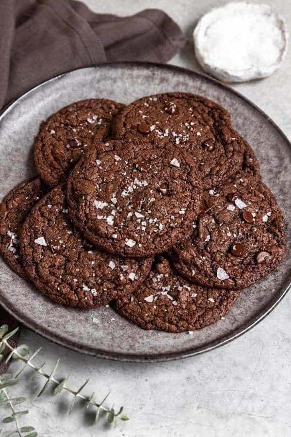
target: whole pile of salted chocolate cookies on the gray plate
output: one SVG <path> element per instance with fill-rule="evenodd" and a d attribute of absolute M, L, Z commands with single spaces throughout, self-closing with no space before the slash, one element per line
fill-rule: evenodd
<path fill-rule="evenodd" d="M 0 253 L 57 303 L 192 332 L 286 251 L 253 150 L 206 98 L 73 103 L 41 124 L 34 161 L 0 205 Z"/>

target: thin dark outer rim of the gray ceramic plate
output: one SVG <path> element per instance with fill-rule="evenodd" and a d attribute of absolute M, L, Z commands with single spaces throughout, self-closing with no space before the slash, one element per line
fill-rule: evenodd
<path fill-rule="evenodd" d="M 291 141 L 288 139 L 287 135 L 284 134 L 284 132 L 279 128 L 279 126 L 275 123 L 275 121 L 272 118 L 270 118 L 262 109 L 260 109 L 259 106 L 257 106 L 255 103 L 253 103 L 248 98 L 243 96 L 237 90 L 234 90 L 233 88 L 231 88 L 229 85 L 224 84 L 224 83 L 212 78 L 211 76 L 208 76 L 207 74 L 193 71 L 193 70 L 190 70 L 189 68 L 178 67 L 178 66 L 175 66 L 172 64 L 159 64 L 159 63 L 141 62 L 141 61 L 134 61 L 134 62 L 122 61 L 122 62 L 102 63 L 102 64 L 98 64 L 98 65 L 91 66 L 91 67 L 75 68 L 73 70 L 69 70 L 65 73 L 54 76 L 53 78 L 48 79 L 48 80 L 41 82 L 40 84 L 34 86 L 30 90 L 28 90 L 27 92 L 22 94 L 20 97 L 18 97 L 16 100 L 14 100 L 14 101 L 8 103 L 6 106 L 4 106 L 2 108 L 2 110 L 0 111 L 0 124 L 2 123 L 3 118 L 5 117 L 5 115 L 9 111 L 11 111 L 21 100 L 25 99 L 30 93 L 34 92 L 39 87 L 44 86 L 50 82 L 57 81 L 57 80 L 61 79 L 62 77 L 65 77 L 66 75 L 73 73 L 75 71 L 81 71 L 81 70 L 88 69 L 88 68 L 99 69 L 99 68 L 108 68 L 108 67 L 112 67 L 113 69 L 120 68 L 120 67 L 126 67 L 126 68 L 130 68 L 130 67 L 161 68 L 162 67 L 165 69 L 169 69 L 171 71 L 178 71 L 178 72 L 183 72 L 185 74 L 191 74 L 191 75 L 196 76 L 197 78 L 211 82 L 211 83 L 219 86 L 220 88 L 228 90 L 228 92 L 236 95 L 237 97 L 239 97 L 240 99 L 242 99 L 243 101 L 245 101 L 246 103 L 251 105 L 254 109 L 256 109 L 263 116 L 263 118 L 266 118 L 267 121 L 269 123 L 271 123 L 271 125 L 275 128 L 275 130 L 278 132 L 278 134 L 280 134 L 284 138 L 284 140 L 288 144 L 289 148 L 291 149 Z M 199 348 L 191 348 L 190 347 L 190 348 L 186 348 L 185 350 L 182 350 L 179 352 L 172 352 L 172 353 L 130 354 L 130 353 L 108 352 L 108 351 L 105 352 L 105 351 L 102 351 L 98 348 L 96 349 L 93 347 L 91 348 L 91 347 L 87 347 L 87 346 L 86 347 L 80 346 L 76 342 L 70 341 L 68 339 L 64 340 L 62 336 L 58 336 L 57 334 L 52 335 L 52 334 L 46 332 L 46 328 L 41 328 L 37 325 L 37 323 L 33 323 L 32 321 L 26 319 L 23 315 L 21 316 L 21 314 L 18 314 L 17 311 L 14 312 L 13 308 L 9 307 L 9 303 L 4 301 L 2 296 L 0 296 L 0 303 L 1 303 L 2 307 L 9 314 L 11 314 L 16 320 L 21 322 L 24 326 L 28 327 L 29 329 L 31 329 L 35 333 L 39 334 L 40 336 L 47 338 L 50 341 L 53 341 L 54 343 L 59 344 L 67 349 L 71 349 L 73 351 L 84 353 L 87 355 L 96 356 L 98 358 L 109 359 L 109 360 L 114 360 L 114 361 L 154 363 L 154 362 L 165 362 L 165 361 L 184 359 L 184 358 L 189 358 L 191 356 L 200 355 L 202 353 L 207 353 L 207 352 L 210 352 L 214 349 L 222 347 L 222 346 L 230 343 L 231 341 L 235 340 L 236 338 L 239 338 L 240 336 L 244 335 L 245 333 L 247 333 L 248 331 L 253 329 L 256 325 L 258 325 L 263 319 L 265 319 L 265 317 L 267 317 L 275 309 L 275 307 L 283 300 L 283 298 L 286 296 L 286 294 L 288 293 L 288 291 L 291 288 L 291 278 L 288 278 L 288 281 L 287 281 L 288 283 L 286 284 L 286 286 L 283 286 L 283 289 L 281 290 L 281 292 L 277 296 L 275 296 L 271 300 L 270 303 L 265 305 L 256 316 L 254 316 L 252 319 L 250 319 L 250 321 L 246 322 L 242 327 L 229 333 L 226 336 L 223 336 L 222 338 L 218 338 L 214 342 L 214 344 L 212 342 L 212 344 L 210 346 L 205 345 L 205 346 L 201 346 Z M 0 290 L 1 290 L 1 287 L 0 287 Z"/>

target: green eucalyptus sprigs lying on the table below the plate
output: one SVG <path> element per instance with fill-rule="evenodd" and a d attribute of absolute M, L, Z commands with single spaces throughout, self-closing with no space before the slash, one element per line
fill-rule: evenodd
<path fill-rule="evenodd" d="M 69 376 L 65 377 L 61 381 L 56 379 L 55 378 L 55 373 L 56 373 L 56 370 L 57 370 L 57 368 L 59 366 L 60 359 L 57 360 L 57 362 L 56 362 L 56 364 L 55 364 L 55 366 L 54 366 L 54 368 L 53 368 L 53 370 L 51 371 L 50 374 L 46 373 L 43 370 L 43 368 L 45 366 L 45 363 L 43 363 L 40 366 L 35 366 L 32 363 L 32 360 L 38 355 L 38 353 L 41 351 L 42 348 L 39 348 L 37 351 L 32 353 L 32 355 L 30 357 L 25 358 L 25 356 L 27 356 L 29 354 L 29 348 L 28 348 L 27 345 L 25 345 L 25 344 L 24 345 L 19 345 L 16 348 L 13 348 L 8 343 L 8 339 L 10 337 L 12 337 L 18 331 L 18 328 L 16 328 L 14 331 L 11 331 L 11 332 L 8 332 L 8 330 L 9 330 L 9 328 L 8 328 L 7 325 L 0 326 L 0 362 L 4 359 L 4 356 L 3 356 L 2 352 L 4 351 L 4 349 L 7 348 L 10 351 L 10 353 L 9 353 L 9 355 L 6 358 L 6 362 L 8 362 L 11 359 L 19 359 L 19 360 L 21 360 L 24 363 L 24 366 L 17 373 L 15 378 L 17 378 L 20 375 L 20 373 L 23 370 L 27 369 L 27 368 L 30 368 L 30 369 L 32 369 L 35 372 L 33 377 L 32 377 L 32 379 L 36 376 L 36 374 L 40 374 L 41 376 L 43 376 L 46 379 L 46 382 L 45 382 L 45 385 L 42 387 L 42 389 L 40 390 L 40 392 L 39 392 L 39 394 L 37 396 L 40 396 L 45 391 L 45 389 L 48 387 L 49 383 L 52 383 L 55 386 L 54 390 L 53 390 L 53 395 L 54 396 L 59 394 L 59 393 L 61 393 L 63 390 L 68 391 L 73 396 L 71 404 L 70 404 L 70 407 L 69 407 L 69 414 L 71 414 L 71 412 L 73 411 L 73 407 L 74 407 L 76 399 L 79 398 L 79 399 L 81 399 L 81 400 L 83 400 L 85 402 L 85 408 L 88 408 L 90 405 L 92 405 L 96 409 L 96 412 L 95 412 L 95 422 L 97 422 L 97 420 L 99 419 L 100 411 L 104 412 L 104 414 L 105 414 L 105 416 L 107 418 L 108 423 L 113 423 L 114 422 L 114 424 L 116 424 L 116 420 L 117 419 L 120 419 L 120 420 L 129 420 L 129 418 L 126 415 L 122 415 L 123 406 L 121 406 L 119 408 L 119 410 L 116 412 L 114 410 L 113 406 L 112 407 L 106 407 L 104 405 L 104 403 L 107 400 L 110 392 L 105 396 L 105 398 L 101 402 L 97 402 L 94 399 L 95 392 L 93 392 L 91 394 L 91 396 L 89 396 L 89 397 L 82 395 L 81 391 L 88 384 L 89 380 L 86 380 L 84 382 L 84 384 L 82 384 L 82 386 L 77 391 L 75 391 L 75 390 L 71 389 L 70 387 L 68 387 L 68 385 L 67 385 L 67 380 L 68 380 Z M 3 378 L 3 376 L 4 375 L 2 375 L 2 378 Z M 2 400 L 0 401 L 0 406 L 9 405 L 11 410 L 12 410 L 12 415 L 10 416 L 12 419 L 8 420 L 8 418 L 7 418 L 7 420 L 4 423 L 7 423 L 8 421 L 9 422 L 14 421 L 16 423 L 16 431 L 15 431 L 15 434 L 12 434 L 13 436 L 22 437 L 22 436 L 24 436 L 24 434 L 23 434 L 24 432 L 30 432 L 30 434 L 26 435 L 25 437 L 35 437 L 35 436 L 37 436 L 37 433 L 34 431 L 34 429 L 31 430 L 32 427 L 23 427 L 22 431 L 21 431 L 21 428 L 18 425 L 18 422 L 17 422 L 18 414 L 17 414 L 17 412 L 14 409 L 14 405 L 16 403 L 19 403 L 21 399 L 23 400 L 22 402 L 24 402 L 25 398 L 11 399 L 9 397 L 9 394 L 8 394 L 8 392 L 6 390 L 6 387 L 15 385 L 17 383 L 17 380 L 16 379 L 12 379 L 10 376 L 11 375 L 4 376 L 4 379 L 7 378 L 7 380 L 4 381 L 2 379 L 2 381 L 0 383 L 0 396 L 2 397 Z M 3 387 L 3 385 L 5 387 Z M 23 414 L 27 414 L 25 412 L 22 412 L 22 413 Z M 30 428 L 30 429 L 28 430 L 28 428 Z"/>

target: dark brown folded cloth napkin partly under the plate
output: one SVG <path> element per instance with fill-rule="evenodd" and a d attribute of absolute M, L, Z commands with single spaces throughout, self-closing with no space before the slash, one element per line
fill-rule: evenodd
<path fill-rule="evenodd" d="M 185 42 L 178 25 L 157 9 L 116 17 L 74 0 L 1 0 L 0 109 L 66 71 L 113 61 L 167 62 Z M 3 323 L 16 324 L 0 307 Z"/>

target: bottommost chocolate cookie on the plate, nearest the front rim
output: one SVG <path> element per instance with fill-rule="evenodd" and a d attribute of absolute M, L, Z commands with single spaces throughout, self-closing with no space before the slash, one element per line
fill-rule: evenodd
<path fill-rule="evenodd" d="M 113 308 L 144 329 L 194 331 L 224 317 L 238 295 L 233 290 L 194 285 L 163 259 L 133 296 L 118 299 Z"/>

